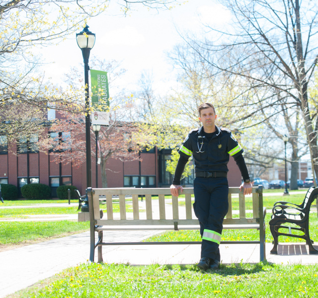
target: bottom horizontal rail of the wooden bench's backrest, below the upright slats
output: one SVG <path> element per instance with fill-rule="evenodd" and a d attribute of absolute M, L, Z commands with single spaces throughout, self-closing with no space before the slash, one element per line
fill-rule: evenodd
<path fill-rule="evenodd" d="M 178 228 L 181 229 L 182 225 L 193 225 L 198 226 L 198 220 L 96 220 L 97 225 L 174 225 L 178 223 Z M 256 219 L 224 219 L 223 224 L 237 224 L 237 225 L 247 225 L 247 224 L 257 224 Z"/>

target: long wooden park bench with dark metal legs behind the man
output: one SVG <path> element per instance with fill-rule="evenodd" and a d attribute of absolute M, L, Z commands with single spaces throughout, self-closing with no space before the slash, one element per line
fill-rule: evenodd
<path fill-rule="evenodd" d="M 185 195 L 185 216 L 179 216 L 178 201 L 184 200 L 172 196 L 172 214 L 168 216 L 165 205 L 165 196 L 171 196 L 169 188 L 88 188 L 89 216 L 87 212 L 79 213 L 79 221 L 90 221 L 90 255 L 89 261 L 94 261 L 94 251 L 98 247 L 98 262 L 102 262 L 102 245 L 147 245 L 147 244 L 201 244 L 201 241 L 180 241 L 180 242 L 104 242 L 103 231 L 106 230 L 184 230 L 200 229 L 197 218 L 192 217 L 193 188 L 184 188 Z M 235 198 L 238 194 L 238 198 Z M 146 212 L 139 209 L 138 196 L 145 196 Z M 107 213 L 101 218 L 99 208 L 100 196 L 106 197 Z M 113 212 L 113 196 L 118 196 L 120 213 Z M 126 213 L 126 198 L 132 199 L 132 213 Z M 152 196 L 158 196 L 156 205 L 159 205 L 158 214 L 153 213 L 155 200 Z M 170 199 L 171 200 L 171 199 Z M 233 217 L 233 203 L 239 202 L 239 218 Z M 229 212 L 224 219 L 224 229 L 257 229 L 259 230 L 258 241 L 221 241 L 221 244 L 231 243 L 258 243 L 260 247 L 260 260 L 266 260 L 265 256 L 265 224 L 264 217 L 266 209 L 263 208 L 262 186 L 252 189 L 253 216 L 246 217 L 245 197 L 238 187 L 229 189 Z M 118 206 L 118 205 L 117 205 Z M 131 217 L 131 218 L 129 218 Z M 171 217 L 171 218 L 169 218 Z M 98 239 L 95 242 L 95 233 Z"/>

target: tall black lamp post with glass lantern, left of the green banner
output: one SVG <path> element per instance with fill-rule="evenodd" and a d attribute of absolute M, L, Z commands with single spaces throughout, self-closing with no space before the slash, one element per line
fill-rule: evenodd
<path fill-rule="evenodd" d="M 76 40 L 84 60 L 84 76 L 85 76 L 85 135 L 86 135 L 86 189 L 91 187 L 91 154 L 90 154 L 90 119 L 89 119 L 89 92 L 88 92 L 88 59 L 90 50 L 95 44 L 95 34 L 85 28 L 76 34 Z M 88 212 L 88 200 L 86 195 L 85 205 L 81 207 L 82 212 Z"/>

